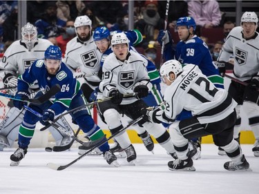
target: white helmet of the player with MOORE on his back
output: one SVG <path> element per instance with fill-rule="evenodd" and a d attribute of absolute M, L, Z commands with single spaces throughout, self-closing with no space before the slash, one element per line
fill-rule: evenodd
<path fill-rule="evenodd" d="M 167 79 L 169 79 L 170 72 L 174 73 L 176 79 L 178 74 L 182 72 L 182 64 L 180 64 L 180 62 L 175 59 L 166 61 L 160 68 L 160 75 L 161 77 L 166 77 Z"/>

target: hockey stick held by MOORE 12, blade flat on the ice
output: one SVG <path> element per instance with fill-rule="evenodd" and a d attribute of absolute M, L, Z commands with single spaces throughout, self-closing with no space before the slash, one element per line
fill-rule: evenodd
<path fill-rule="evenodd" d="M 113 139 L 116 135 L 118 135 L 119 133 L 122 133 L 122 131 L 126 130 L 126 128 L 132 126 L 133 124 L 139 122 L 141 119 L 143 118 L 143 115 L 138 117 L 137 119 L 133 120 L 132 122 L 129 122 L 127 126 L 125 126 L 124 128 L 118 130 L 116 133 L 114 133 L 113 135 L 111 135 L 111 137 L 108 137 L 107 139 L 104 139 L 104 141 L 99 142 L 98 144 L 95 145 L 95 147 L 91 148 L 90 150 L 88 150 L 86 153 L 80 155 L 79 157 L 77 157 L 77 159 L 74 159 L 72 162 L 61 166 L 58 164 L 54 164 L 54 163 L 48 163 L 47 166 L 48 168 L 51 168 L 55 171 L 62 171 L 66 168 L 68 168 L 69 166 L 71 166 L 72 164 L 74 164 L 75 162 L 79 161 L 79 159 L 85 157 L 88 153 L 90 153 L 91 151 L 93 151 L 95 148 L 98 148 L 99 146 L 102 146 L 103 144 L 105 144 L 106 142 L 108 142 L 110 139 Z"/>

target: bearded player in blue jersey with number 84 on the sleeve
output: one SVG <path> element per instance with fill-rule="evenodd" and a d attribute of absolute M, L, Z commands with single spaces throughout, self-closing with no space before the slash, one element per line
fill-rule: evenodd
<path fill-rule="evenodd" d="M 36 80 L 41 92 L 37 93 L 35 97 L 39 97 L 55 84 L 59 84 L 61 87 L 61 91 L 55 95 L 53 102 L 47 101 L 41 105 L 30 104 L 30 108 L 42 113 L 41 122 L 46 122 L 46 124 L 49 120 L 53 121 L 55 115 L 82 106 L 86 102 L 80 90 L 79 81 L 75 79 L 73 72 L 69 70 L 66 64 L 61 62 L 61 56 L 61 50 L 58 46 L 49 46 L 45 51 L 44 59 L 36 60 L 18 79 L 17 97 L 28 97 L 28 87 Z M 24 104 L 23 101 L 14 101 L 14 106 L 19 109 L 23 108 Z M 104 137 L 103 131 L 93 121 L 88 108 L 75 110 L 70 115 L 90 139 Z M 11 166 L 19 165 L 21 159 L 25 157 L 38 121 L 39 117 L 28 110 L 26 111 L 19 128 L 19 148 L 10 156 Z M 104 154 L 104 159 L 108 164 L 118 166 L 117 157 L 109 151 L 108 143 L 99 146 L 99 150 Z"/>

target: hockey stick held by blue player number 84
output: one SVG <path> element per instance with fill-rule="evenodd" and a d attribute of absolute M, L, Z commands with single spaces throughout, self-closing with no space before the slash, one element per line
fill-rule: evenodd
<path fill-rule="evenodd" d="M 30 111 L 30 113 L 36 115 L 37 117 L 39 117 L 39 118 L 42 117 L 42 115 L 41 115 L 40 113 L 38 113 L 36 110 L 33 110 L 33 109 L 30 108 L 29 106 L 23 105 L 23 107 L 24 107 L 26 110 Z M 80 139 L 78 139 L 77 137 L 75 137 L 73 134 L 68 133 L 68 131 L 67 131 L 65 128 L 59 126 L 58 124 L 55 124 L 55 123 L 52 122 L 52 121 L 48 121 L 48 122 L 49 122 L 50 125 L 53 126 L 55 129 L 57 129 L 57 130 L 59 130 L 59 131 L 65 133 L 66 135 L 68 135 L 68 137 L 71 137 L 71 138 L 74 139 L 75 141 L 79 142 L 79 144 L 82 144 L 82 145 L 85 146 L 87 149 L 90 149 L 90 148 L 95 147 L 95 144 L 99 144 L 99 142 L 102 142 L 104 139 L 106 139 L 106 137 L 104 136 L 104 137 L 102 137 L 102 138 L 100 138 L 100 139 L 97 139 L 97 140 L 95 140 L 95 141 L 83 142 L 83 141 L 81 141 Z"/>

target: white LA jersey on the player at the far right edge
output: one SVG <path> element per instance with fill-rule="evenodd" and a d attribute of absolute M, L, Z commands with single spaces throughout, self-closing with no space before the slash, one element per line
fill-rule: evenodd
<path fill-rule="evenodd" d="M 222 46 L 218 61 L 229 61 L 233 55 L 234 75 L 242 81 L 251 79 L 259 72 L 259 34 L 251 39 L 242 37 L 242 27 L 233 28 Z"/>

